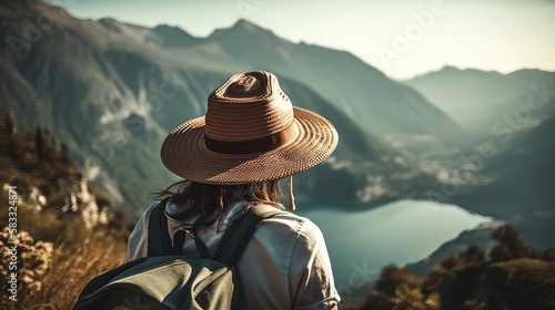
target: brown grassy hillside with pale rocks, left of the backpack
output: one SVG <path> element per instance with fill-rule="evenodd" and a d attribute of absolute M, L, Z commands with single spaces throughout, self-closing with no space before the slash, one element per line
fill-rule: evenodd
<path fill-rule="evenodd" d="M 70 309 L 87 281 L 123 261 L 129 217 L 90 187 L 63 141 L 40 127 L 18 127 L 12 113 L 4 116 L 0 308 Z M 13 275 L 16 286 L 8 283 Z"/>

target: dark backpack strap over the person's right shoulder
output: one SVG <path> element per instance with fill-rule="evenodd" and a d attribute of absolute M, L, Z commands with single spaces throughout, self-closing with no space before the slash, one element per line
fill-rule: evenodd
<path fill-rule="evenodd" d="M 229 266 L 234 266 L 243 252 L 254 229 L 262 220 L 283 213 L 273 206 L 258 204 L 249 208 L 249 211 L 235 219 L 225 230 L 218 246 L 214 259 Z"/>

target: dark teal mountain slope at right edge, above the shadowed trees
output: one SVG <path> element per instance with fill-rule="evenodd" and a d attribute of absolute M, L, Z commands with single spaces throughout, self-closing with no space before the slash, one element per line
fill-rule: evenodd
<path fill-rule="evenodd" d="M 555 104 L 555 99 L 548 104 Z M 484 166 L 482 173 L 493 180 L 460 193 L 453 203 L 512 223 L 535 248 L 555 246 L 554 132 L 552 116 L 533 130 L 513 134 L 511 148 Z"/>

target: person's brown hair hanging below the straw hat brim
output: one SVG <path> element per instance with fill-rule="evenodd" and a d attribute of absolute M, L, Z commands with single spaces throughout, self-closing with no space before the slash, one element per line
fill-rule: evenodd
<path fill-rule="evenodd" d="M 279 179 L 241 185 L 203 184 L 185 179 L 154 193 L 154 197 L 159 199 L 169 197 L 178 205 L 186 205 L 186 211 L 175 216 L 178 218 L 200 214 L 204 218 L 210 216 L 215 220 L 225 208 L 239 200 L 264 203 L 283 208 L 280 204 Z"/>

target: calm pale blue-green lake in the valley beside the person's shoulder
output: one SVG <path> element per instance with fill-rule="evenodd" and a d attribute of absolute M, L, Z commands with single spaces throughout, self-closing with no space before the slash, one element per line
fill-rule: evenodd
<path fill-rule="evenodd" d="M 305 204 L 303 210 L 299 204 L 295 213 L 322 229 L 336 286 L 377 278 L 387 264 L 418 261 L 463 230 L 492 220 L 434 202 L 398 200 L 364 211 L 319 206 Z"/>

